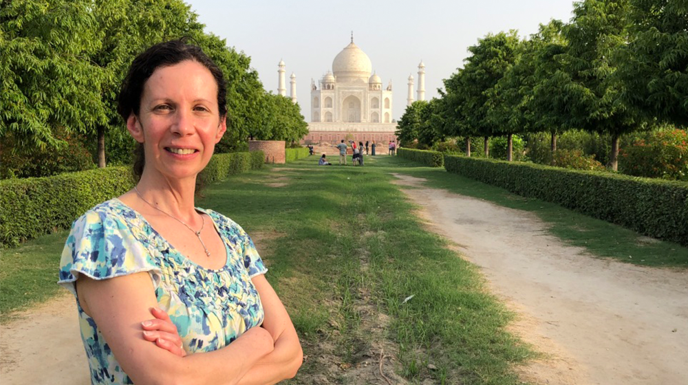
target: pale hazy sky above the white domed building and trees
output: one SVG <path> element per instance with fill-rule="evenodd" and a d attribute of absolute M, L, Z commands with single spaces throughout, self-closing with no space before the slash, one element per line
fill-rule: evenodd
<path fill-rule="evenodd" d="M 572 0 L 424 0 L 424 1 L 217 1 L 186 0 L 212 32 L 250 56 L 266 90 L 277 94 L 277 64 L 297 76 L 297 101 L 310 122 L 310 80 L 316 84 L 332 70 L 334 57 L 354 43 L 374 71 L 393 86 L 393 118 L 406 109 L 409 74 L 413 98 L 418 64 L 425 64 L 425 98 L 438 96 L 442 80 L 463 66 L 468 47 L 486 34 L 537 32 L 551 19 L 570 21 Z"/>

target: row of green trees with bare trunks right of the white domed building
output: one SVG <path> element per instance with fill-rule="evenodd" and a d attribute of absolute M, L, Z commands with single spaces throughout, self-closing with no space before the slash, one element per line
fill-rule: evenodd
<path fill-rule="evenodd" d="M 619 137 L 688 125 L 688 1 L 583 0 L 570 23 L 552 20 L 526 39 L 488 34 L 469 47 L 440 97 L 413 102 L 400 118 L 402 144 L 448 137 L 557 135 L 579 129 L 608 135 L 617 169 Z"/>

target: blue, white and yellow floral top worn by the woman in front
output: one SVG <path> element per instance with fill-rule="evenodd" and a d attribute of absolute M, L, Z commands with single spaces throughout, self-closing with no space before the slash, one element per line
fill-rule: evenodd
<path fill-rule="evenodd" d="M 250 278 L 267 269 L 255 245 L 231 219 L 213 219 L 227 250 L 219 270 L 186 259 L 141 214 L 119 199 L 92 208 L 72 224 L 60 262 L 60 285 L 76 296 L 79 274 L 97 280 L 148 272 L 160 309 L 169 314 L 187 353 L 220 349 L 263 322 L 263 307 Z M 81 338 L 93 384 L 133 384 L 122 371 L 93 318 L 78 298 Z"/>

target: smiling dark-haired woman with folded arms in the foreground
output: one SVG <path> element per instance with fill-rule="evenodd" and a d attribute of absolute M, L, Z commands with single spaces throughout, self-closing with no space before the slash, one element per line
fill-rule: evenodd
<path fill-rule="evenodd" d="M 92 383 L 293 377 L 299 339 L 250 237 L 194 206 L 197 175 L 226 131 L 222 71 L 198 47 L 160 43 L 133 61 L 118 102 L 140 179 L 74 222 L 60 270 Z"/>

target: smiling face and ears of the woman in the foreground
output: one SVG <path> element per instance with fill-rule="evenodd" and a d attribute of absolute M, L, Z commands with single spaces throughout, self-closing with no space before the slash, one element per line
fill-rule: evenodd
<path fill-rule="evenodd" d="M 196 61 L 155 69 L 144 84 L 140 106 L 138 116 L 129 116 L 127 129 L 144 144 L 144 176 L 195 177 L 227 129 L 218 113 L 215 78 Z"/>

